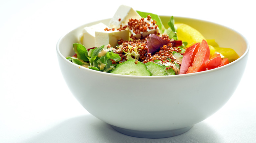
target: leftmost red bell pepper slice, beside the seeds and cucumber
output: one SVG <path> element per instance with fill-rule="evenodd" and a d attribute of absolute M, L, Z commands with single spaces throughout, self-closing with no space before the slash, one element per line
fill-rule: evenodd
<path fill-rule="evenodd" d="M 181 62 L 181 69 L 179 74 L 185 74 L 187 69 L 192 66 L 194 61 L 194 57 L 198 51 L 200 43 L 195 43 L 192 46 L 188 47 L 183 54 L 182 62 Z"/>

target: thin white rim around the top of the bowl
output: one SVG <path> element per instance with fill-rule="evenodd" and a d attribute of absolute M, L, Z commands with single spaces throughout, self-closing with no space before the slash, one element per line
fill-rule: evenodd
<path fill-rule="evenodd" d="M 159 15 L 160 17 L 171 17 L 171 16 L 167 16 L 167 15 Z M 113 73 L 108 73 L 108 72 L 102 72 L 102 71 L 96 71 L 96 70 L 92 70 L 92 69 L 88 69 L 86 67 L 83 67 L 83 66 L 80 66 L 80 65 L 77 65 L 73 62 L 70 62 L 68 59 L 66 59 L 66 57 L 64 57 L 60 50 L 59 50 L 59 47 L 60 47 L 60 43 L 61 41 L 63 40 L 63 38 L 68 35 L 69 33 L 72 33 L 73 31 L 75 31 L 77 28 L 80 28 L 86 24 L 90 24 L 90 23 L 96 23 L 96 22 L 100 22 L 100 21 L 104 21 L 104 20 L 108 20 L 108 19 L 102 19 L 102 20 L 98 20 L 98 21 L 93 21 L 93 22 L 90 22 L 90 23 L 86 23 L 86 24 L 82 24 L 80 26 L 77 26 L 76 28 L 74 28 L 73 30 L 71 30 L 70 32 L 64 34 L 63 36 L 61 36 L 59 38 L 59 40 L 57 41 L 57 44 L 56 44 L 56 52 L 57 52 L 57 55 L 61 57 L 62 60 L 64 60 L 65 62 L 68 62 L 68 64 L 70 64 L 71 66 L 74 66 L 76 68 L 79 68 L 81 70 L 85 70 L 85 71 L 89 71 L 89 72 L 93 72 L 93 73 L 96 73 L 96 74 L 101 74 L 101 75 L 105 75 L 105 76 L 114 76 L 114 77 L 123 77 L 123 78 L 139 78 L 139 79 L 151 79 L 151 78 L 157 78 L 157 79 L 161 79 L 161 78 L 181 78 L 181 77 L 187 77 L 187 76 L 195 76 L 195 75 L 199 75 L 199 74 L 206 74 L 206 73 L 210 73 L 210 72 L 215 72 L 215 71 L 219 71 L 219 70 L 222 70 L 226 67 L 229 67 L 229 66 L 232 66 L 233 64 L 239 62 L 240 60 L 242 60 L 243 58 L 245 58 L 245 56 L 249 53 L 249 42 L 248 40 L 245 38 L 244 35 L 242 35 L 240 32 L 230 28 L 230 27 L 227 27 L 225 25 L 222 25 L 222 24 L 218 24 L 218 23 L 214 23 L 214 22 L 210 22 L 210 21 L 206 21 L 206 20 L 202 20 L 202 19 L 197 19 L 197 18 L 189 18 L 189 17 L 181 17 L 181 16 L 174 16 L 174 18 L 177 17 L 177 18 L 182 18 L 182 19 L 190 19 L 190 20 L 198 20 L 198 21 L 202 21 L 202 22 L 208 22 L 208 23 L 212 23 L 212 24 L 217 24 L 219 26 L 223 26 L 225 28 L 228 28 L 234 32 L 236 32 L 237 34 L 239 34 L 243 40 L 245 40 L 245 43 L 246 43 L 246 49 L 245 49 L 245 52 L 243 53 L 242 56 L 240 56 L 238 59 L 236 59 L 235 61 L 227 64 L 227 65 L 224 65 L 222 67 L 219 67 L 219 68 L 215 68 L 215 69 L 211 69 L 211 70 L 207 70 L 207 71 L 200 71 L 200 72 L 195 72 L 195 73 L 188 73 L 188 74 L 177 74 L 177 75 L 162 75 L 162 76 L 138 76 L 138 75 L 122 75 L 122 74 L 113 74 Z"/>

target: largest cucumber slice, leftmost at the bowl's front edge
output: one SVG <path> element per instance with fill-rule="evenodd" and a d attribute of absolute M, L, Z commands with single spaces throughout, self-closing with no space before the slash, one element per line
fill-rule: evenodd
<path fill-rule="evenodd" d="M 129 59 L 117 65 L 117 67 L 110 71 L 110 73 L 123 74 L 123 75 L 140 75 L 151 76 L 151 72 L 147 69 L 146 65 L 142 62 L 135 64 L 135 60 Z"/>

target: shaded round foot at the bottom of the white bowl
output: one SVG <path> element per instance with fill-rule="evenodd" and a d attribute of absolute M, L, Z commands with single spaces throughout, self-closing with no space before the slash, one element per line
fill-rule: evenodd
<path fill-rule="evenodd" d="M 134 137 L 141 137 L 141 138 L 165 138 L 165 137 L 171 137 L 175 135 L 180 135 L 192 128 L 192 126 L 188 126 L 181 129 L 175 129 L 175 130 L 167 130 L 167 131 L 137 131 L 137 130 L 130 130 L 130 129 L 124 129 L 120 127 L 116 127 L 111 125 L 112 128 L 117 130 L 118 132 L 134 136 Z"/>

